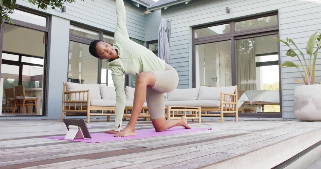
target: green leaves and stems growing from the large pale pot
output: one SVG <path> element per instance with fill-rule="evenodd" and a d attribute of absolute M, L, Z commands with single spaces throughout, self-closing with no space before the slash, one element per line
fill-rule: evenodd
<path fill-rule="evenodd" d="M 317 61 L 317 54 L 319 52 L 319 50 L 321 49 L 321 31 L 320 29 L 318 29 L 314 34 L 312 34 L 308 40 L 308 44 L 306 47 L 307 50 L 307 55 L 305 55 L 302 51 L 300 51 L 300 49 L 298 48 L 298 46 L 292 41 L 292 39 L 290 38 L 286 38 L 286 40 L 281 40 L 281 39 L 276 39 L 275 41 L 281 41 L 282 43 L 286 44 L 290 49 L 286 52 L 287 56 L 291 56 L 291 57 L 298 57 L 299 62 L 301 64 L 301 67 L 303 68 L 303 72 L 304 75 L 302 73 L 302 71 L 300 70 L 300 66 L 297 64 L 294 64 L 293 62 L 285 62 L 282 66 L 286 66 L 286 67 L 296 67 L 298 68 L 302 79 L 304 82 L 302 82 L 300 79 L 295 79 L 295 82 L 299 82 L 303 85 L 313 85 L 316 84 L 316 61 Z M 299 51 L 300 56 L 292 49 L 292 45 L 290 46 L 290 44 L 292 44 L 296 50 Z M 313 52 L 313 50 L 316 50 Z M 307 56 L 307 58 L 305 57 Z M 303 61 L 303 62 L 302 62 Z M 321 84 L 321 81 L 319 82 L 319 84 Z"/>

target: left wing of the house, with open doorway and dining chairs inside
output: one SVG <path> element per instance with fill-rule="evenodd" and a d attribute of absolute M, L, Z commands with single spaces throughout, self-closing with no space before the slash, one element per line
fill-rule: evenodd
<path fill-rule="evenodd" d="M 151 13 L 146 8 L 154 1 L 124 2 L 130 38 L 153 46 L 157 43 L 160 11 Z M 117 22 L 115 0 L 76 1 L 66 4 L 65 12 L 50 7 L 41 10 L 27 0 L 18 0 L 16 4 L 19 8 L 10 15 L 14 25 L 5 23 L 0 29 L 1 90 L 24 85 L 26 95 L 38 98 L 38 111 L 37 114 L 10 111 L 1 117 L 61 117 L 63 82 L 112 84 L 107 62 L 92 57 L 88 47 L 95 39 L 113 43 Z M 131 77 L 125 79 L 126 85 L 131 85 Z M 1 93 L 4 100 L 5 93 Z"/>

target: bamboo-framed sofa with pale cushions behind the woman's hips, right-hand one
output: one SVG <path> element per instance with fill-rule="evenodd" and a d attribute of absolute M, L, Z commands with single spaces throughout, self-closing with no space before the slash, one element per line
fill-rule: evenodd
<path fill-rule="evenodd" d="M 235 116 L 235 121 L 238 121 L 237 92 L 237 85 L 175 89 L 167 94 L 165 106 L 201 107 L 201 111 L 204 111 L 201 116 L 218 116 L 221 117 L 221 123 L 223 123 L 223 116 L 230 114 Z M 210 112 L 219 112 L 219 114 Z"/>

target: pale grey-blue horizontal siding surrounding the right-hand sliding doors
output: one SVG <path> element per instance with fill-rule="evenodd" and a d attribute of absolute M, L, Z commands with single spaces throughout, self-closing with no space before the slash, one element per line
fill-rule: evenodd
<path fill-rule="evenodd" d="M 225 13 L 225 8 L 229 7 L 230 13 Z M 225 20 L 239 19 L 246 16 L 254 16 L 267 12 L 279 12 L 280 38 L 292 38 L 299 49 L 306 53 L 306 43 L 309 36 L 317 29 L 321 28 L 321 0 L 198 0 L 188 4 L 178 4 L 162 9 L 163 18 L 172 20 L 171 29 L 171 65 L 184 73 L 192 73 L 192 46 L 191 27 L 206 25 Z M 188 48 L 187 48 L 188 47 Z M 286 56 L 288 47 L 280 43 L 281 62 L 293 61 L 299 64 L 297 57 Z M 317 81 L 321 80 L 321 53 L 318 53 L 316 65 Z M 188 61 L 189 60 L 189 61 Z M 188 61 L 188 65 L 187 65 Z M 294 118 L 293 99 L 294 89 L 300 85 L 293 82 L 294 78 L 301 75 L 297 68 L 281 68 L 282 79 L 282 113 L 284 118 Z M 180 81 L 184 83 L 186 80 Z M 189 76 L 191 78 L 191 76 Z M 189 85 L 192 86 L 192 79 Z"/>

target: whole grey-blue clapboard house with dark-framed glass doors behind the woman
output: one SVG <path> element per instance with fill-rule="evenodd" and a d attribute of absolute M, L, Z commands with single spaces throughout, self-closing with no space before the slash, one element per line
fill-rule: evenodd
<path fill-rule="evenodd" d="M 273 90 L 270 97 L 278 101 L 265 103 L 277 104 L 248 106 L 239 116 L 295 118 L 294 89 L 300 84 L 293 78 L 300 73 L 279 65 L 299 62 L 286 56 L 287 46 L 274 38 L 290 37 L 304 51 L 321 27 L 321 0 L 124 1 L 130 38 L 154 52 L 160 19 L 171 20 L 170 65 L 178 71 L 178 88 L 238 85 L 240 98 L 248 90 Z M 33 95 L 38 92 L 36 116 L 61 117 L 62 82 L 112 85 L 107 63 L 93 58 L 88 46 L 94 39 L 112 44 L 115 0 L 76 1 L 65 12 L 39 10 L 27 0 L 17 4 L 15 25 L 0 29 L 2 86 L 25 84 Z M 125 79 L 125 85 L 133 85 L 134 77 Z"/>

